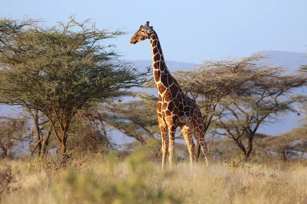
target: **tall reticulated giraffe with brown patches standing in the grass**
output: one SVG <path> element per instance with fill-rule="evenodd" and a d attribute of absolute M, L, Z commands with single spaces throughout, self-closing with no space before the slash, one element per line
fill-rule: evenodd
<path fill-rule="evenodd" d="M 177 127 L 180 127 L 188 146 L 191 166 L 195 161 L 195 144 L 192 138 L 192 131 L 194 131 L 196 139 L 201 144 L 208 165 L 205 125 L 202 113 L 195 100 L 182 92 L 178 82 L 167 69 L 158 35 L 152 26 L 149 27 L 149 21 L 144 26 L 140 26 L 140 29 L 131 38 L 130 43 L 136 44 L 145 39 L 150 40 L 153 78 L 159 93 L 157 114 L 162 139 L 162 168 L 166 165 L 168 151 L 169 163 L 172 166 L 174 138 Z M 169 135 L 169 144 L 167 134 Z"/>

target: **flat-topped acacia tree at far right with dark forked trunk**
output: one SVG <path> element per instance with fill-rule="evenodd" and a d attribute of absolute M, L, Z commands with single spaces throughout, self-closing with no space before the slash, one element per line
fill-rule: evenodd
<path fill-rule="evenodd" d="M 218 133 L 233 139 L 245 158 L 252 152 L 253 139 L 260 125 L 276 123 L 283 115 L 297 112 L 296 105 L 306 99 L 297 91 L 306 85 L 305 77 L 274 71 L 272 66 L 272 74 L 268 77 L 243 85 L 248 87 L 248 95 L 225 98 Z M 248 138 L 247 144 L 243 143 L 244 137 Z"/>

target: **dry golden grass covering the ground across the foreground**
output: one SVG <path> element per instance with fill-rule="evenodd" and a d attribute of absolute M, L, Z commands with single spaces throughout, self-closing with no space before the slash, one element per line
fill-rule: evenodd
<path fill-rule="evenodd" d="M 2 160 L 3 166 L 17 182 L 1 203 L 307 203 L 306 162 L 181 162 L 162 171 L 135 154 L 124 161 L 85 157 L 63 168 L 35 160 Z"/>

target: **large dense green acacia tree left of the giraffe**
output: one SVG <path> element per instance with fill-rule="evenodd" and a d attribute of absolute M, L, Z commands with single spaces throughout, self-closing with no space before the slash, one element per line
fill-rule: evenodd
<path fill-rule="evenodd" d="M 98 30 L 87 19 L 44 27 L 38 21 L 0 20 L 0 101 L 37 110 L 48 119 L 60 149 L 72 119 L 95 101 L 110 105 L 127 88 L 140 86 L 145 73 L 103 45 L 124 34 Z"/>

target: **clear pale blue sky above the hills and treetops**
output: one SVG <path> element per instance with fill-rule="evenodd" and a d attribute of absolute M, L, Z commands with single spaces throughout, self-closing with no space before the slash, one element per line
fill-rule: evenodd
<path fill-rule="evenodd" d="M 152 4 L 155 2 L 155 4 Z M 3 1 L 2 17 L 43 18 L 50 24 L 93 18 L 99 29 L 129 32 L 114 43 L 124 59 L 151 60 L 149 41 L 130 44 L 147 20 L 165 59 L 200 63 L 260 50 L 306 52 L 307 1 Z"/>

